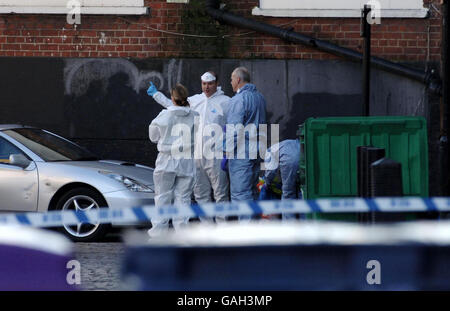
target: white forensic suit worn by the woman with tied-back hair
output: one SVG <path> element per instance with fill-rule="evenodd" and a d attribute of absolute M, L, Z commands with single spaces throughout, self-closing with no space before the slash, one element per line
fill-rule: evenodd
<path fill-rule="evenodd" d="M 193 159 L 195 122 L 198 113 L 189 107 L 170 106 L 162 110 L 149 126 L 149 137 L 158 143 L 153 181 L 155 205 L 191 204 L 195 178 Z M 189 218 L 174 218 L 175 229 Z M 157 236 L 169 228 L 169 219 L 152 220 L 149 235 Z"/>

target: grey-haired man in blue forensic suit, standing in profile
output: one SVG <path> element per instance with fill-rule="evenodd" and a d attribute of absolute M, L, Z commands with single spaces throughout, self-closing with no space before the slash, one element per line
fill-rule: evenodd
<path fill-rule="evenodd" d="M 230 110 L 227 116 L 227 135 L 230 125 L 255 125 L 256 132 L 246 133 L 244 144 L 239 145 L 236 132 L 234 133 L 234 148 L 230 150 L 226 144 L 225 150 L 228 156 L 228 171 L 230 174 L 230 194 L 231 201 L 253 201 L 258 198 L 256 185 L 258 183 L 261 160 L 252 156 L 249 149 L 258 148 L 255 142 L 258 141 L 260 124 L 266 124 L 266 101 L 264 96 L 250 83 L 250 73 L 245 67 L 234 69 L 231 74 L 231 86 L 236 95 L 231 98 Z M 256 136 L 256 137 L 255 137 Z M 227 139 L 225 139 L 227 140 Z M 224 144 L 224 145 L 225 145 Z M 245 147 L 245 154 L 241 152 Z M 257 150 L 256 150 L 257 151 Z M 253 152 L 253 155 L 255 152 Z M 245 217 L 244 217 L 245 218 Z"/>

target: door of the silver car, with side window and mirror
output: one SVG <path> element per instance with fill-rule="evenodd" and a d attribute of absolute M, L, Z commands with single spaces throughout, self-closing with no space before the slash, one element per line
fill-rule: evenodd
<path fill-rule="evenodd" d="M 36 211 L 39 190 L 36 164 L 31 161 L 25 168 L 12 165 L 12 154 L 26 156 L 0 136 L 0 211 Z"/>

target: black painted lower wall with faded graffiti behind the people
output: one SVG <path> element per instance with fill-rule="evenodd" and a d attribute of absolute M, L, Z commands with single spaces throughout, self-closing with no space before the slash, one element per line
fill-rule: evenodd
<path fill-rule="evenodd" d="M 196 94 L 200 76 L 214 70 L 232 96 L 237 66 L 251 71 L 281 140 L 295 138 L 308 117 L 361 115 L 360 65 L 345 61 L 0 58 L 0 123 L 43 127 L 104 158 L 154 166 L 147 129 L 161 107 L 147 95 L 148 82 L 166 95 L 177 82 Z M 422 115 L 435 124 L 438 100 L 430 102 L 418 82 L 373 70 L 371 115 Z M 433 153 L 438 129 L 430 129 Z"/>

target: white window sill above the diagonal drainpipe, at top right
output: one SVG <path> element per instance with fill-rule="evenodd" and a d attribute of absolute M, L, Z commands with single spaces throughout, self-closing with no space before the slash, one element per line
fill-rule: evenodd
<path fill-rule="evenodd" d="M 260 0 L 253 15 L 286 17 L 360 17 L 368 0 Z M 381 18 L 424 18 L 423 0 L 378 0 Z"/>

